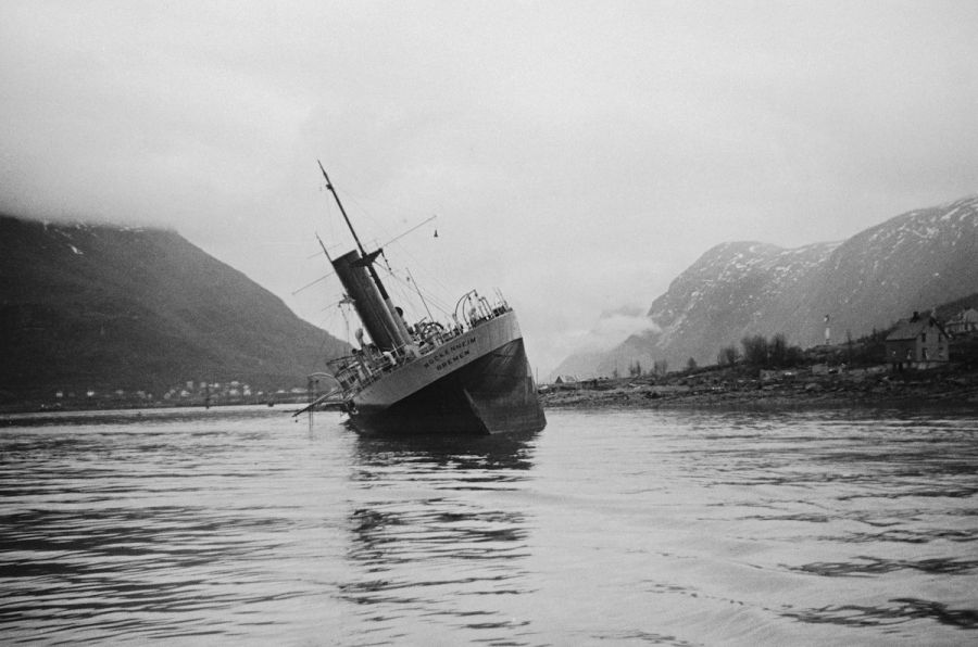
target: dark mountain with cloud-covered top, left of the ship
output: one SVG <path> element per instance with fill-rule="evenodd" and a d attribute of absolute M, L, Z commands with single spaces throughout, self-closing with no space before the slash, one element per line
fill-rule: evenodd
<path fill-rule="evenodd" d="M 344 344 L 174 231 L 0 216 L 0 399 L 302 385 Z"/>

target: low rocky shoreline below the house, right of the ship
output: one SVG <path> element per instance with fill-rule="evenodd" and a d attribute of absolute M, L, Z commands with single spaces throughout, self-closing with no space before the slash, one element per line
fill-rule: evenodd
<path fill-rule="evenodd" d="M 731 372 L 652 379 L 591 380 L 541 388 L 546 408 L 973 408 L 978 371 L 867 370 L 762 379 Z"/>

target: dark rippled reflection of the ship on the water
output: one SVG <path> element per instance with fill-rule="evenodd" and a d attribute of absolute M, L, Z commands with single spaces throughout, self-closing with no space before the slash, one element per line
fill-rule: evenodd
<path fill-rule="evenodd" d="M 536 436 L 358 439 L 354 569 L 339 588 L 361 606 L 372 639 L 397 642 L 405 616 L 454 618 L 505 640 L 529 623 L 511 613 L 513 599 L 534 589 L 525 566 L 532 521 L 512 494 L 529 478 Z"/>

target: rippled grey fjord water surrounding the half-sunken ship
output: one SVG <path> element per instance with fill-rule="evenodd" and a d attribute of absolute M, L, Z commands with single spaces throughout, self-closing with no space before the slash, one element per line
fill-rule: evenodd
<path fill-rule="evenodd" d="M 551 411 L 0 419 L 0 642 L 978 643 L 978 421 Z"/>

